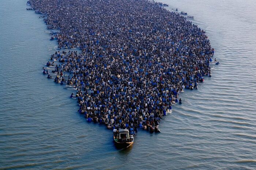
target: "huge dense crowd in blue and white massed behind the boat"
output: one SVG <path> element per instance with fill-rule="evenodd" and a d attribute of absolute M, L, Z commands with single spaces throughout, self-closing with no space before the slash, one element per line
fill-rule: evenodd
<path fill-rule="evenodd" d="M 185 88 L 210 76 L 214 53 L 205 31 L 148 0 L 30 0 L 60 29 L 51 59 L 56 83 L 74 86 L 80 114 L 109 129 L 157 131 Z M 45 68 L 44 68 L 45 69 Z M 44 70 L 45 74 L 49 74 Z M 64 78 L 64 73 L 69 73 Z"/>

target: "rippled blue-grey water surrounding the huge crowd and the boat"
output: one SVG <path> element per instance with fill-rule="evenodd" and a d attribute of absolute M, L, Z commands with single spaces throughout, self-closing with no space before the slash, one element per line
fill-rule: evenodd
<path fill-rule="evenodd" d="M 57 44 L 39 15 L 0 1 L 0 169 L 256 169 L 255 1 L 162 2 L 194 16 L 221 64 L 182 93 L 161 133 L 116 150 L 112 131 L 76 112 L 73 91 L 42 75 Z"/>

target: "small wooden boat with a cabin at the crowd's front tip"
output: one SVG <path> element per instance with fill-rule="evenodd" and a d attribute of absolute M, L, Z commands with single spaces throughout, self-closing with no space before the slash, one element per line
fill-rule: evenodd
<path fill-rule="evenodd" d="M 114 143 L 118 148 L 129 147 L 133 143 L 133 135 L 129 134 L 128 129 L 120 129 L 114 132 Z"/>

